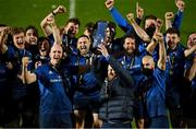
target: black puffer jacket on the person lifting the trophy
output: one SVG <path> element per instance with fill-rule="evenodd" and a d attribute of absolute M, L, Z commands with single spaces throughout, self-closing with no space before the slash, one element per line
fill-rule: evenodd
<path fill-rule="evenodd" d="M 135 98 L 132 77 L 113 57 L 108 62 L 118 77 L 101 83 L 99 118 L 103 121 L 132 120 Z"/>

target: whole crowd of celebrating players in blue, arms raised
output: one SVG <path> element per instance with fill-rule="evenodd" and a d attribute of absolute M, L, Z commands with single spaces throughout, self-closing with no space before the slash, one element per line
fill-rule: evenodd
<path fill-rule="evenodd" d="M 105 4 L 114 22 L 89 22 L 77 38 L 77 17 L 56 24 L 63 5 L 41 21 L 45 36 L 32 25 L 0 24 L 1 127 L 196 127 L 196 32 L 186 46 L 180 40 L 185 2 L 175 0 L 176 14 L 166 13 L 166 32 L 138 3 L 136 17 L 126 19 L 114 0 Z M 100 22 L 105 37 L 95 45 Z"/>

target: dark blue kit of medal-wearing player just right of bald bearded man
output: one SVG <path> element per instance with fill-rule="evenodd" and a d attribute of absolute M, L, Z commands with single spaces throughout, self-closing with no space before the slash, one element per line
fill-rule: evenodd
<path fill-rule="evenodd" d="M 180 98 L 184 87 L 184 47 L 177 45 L 175 49 L 167 51 L 166 82 L 167 105 L 169 108 L 180 108 Z"/>

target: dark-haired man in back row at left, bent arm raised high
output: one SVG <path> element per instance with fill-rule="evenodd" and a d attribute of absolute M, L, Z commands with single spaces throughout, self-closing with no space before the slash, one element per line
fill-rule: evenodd
<path fill-rule="evenodd" d="M 50 26 L 50 23 L 51 21 L 54 20 L 56 15 L 64 12 L 66 12 L 66 9 L 63 5 L 59 5 L 56 10 L 49 13 L 40 23 L 40 26 L 45 35 L 49 37 L 51 44 L 54 43 L 54 38 L 52 35 L 53 31 L 52 27 Z M 62 38 L 64 50 L 68 52 L 68 55 L 72 52 L 77 54 L 76 50 L 77 38 L 75 36 L 78 33 L 79 24 L 81 23 L 77 17 L 72 17 L 66 21 L 63 28 L 58 28 L 60 36 Z"/>

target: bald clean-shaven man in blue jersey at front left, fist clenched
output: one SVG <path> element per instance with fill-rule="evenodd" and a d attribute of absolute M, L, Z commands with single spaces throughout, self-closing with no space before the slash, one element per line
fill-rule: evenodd
<path fill-rule="evenodd" d="M 35 72 L 27 70 L 29 59 L 23 58 L 23 82 L 30 84 L 38 81 L 40 91 L 40 128 L 72 128 L 72 104 L 65 87 L 70 86 L 68 73 L 61 66 L 63 49 L 54 44 L 50 50 L 50 61 L 38 67 Z"/>

